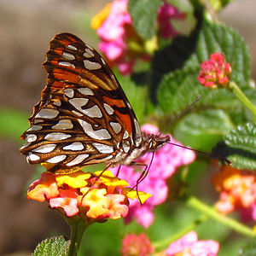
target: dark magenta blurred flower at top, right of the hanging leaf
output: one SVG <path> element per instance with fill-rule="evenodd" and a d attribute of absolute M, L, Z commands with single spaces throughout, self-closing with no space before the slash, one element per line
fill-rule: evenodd
<path fill-rule="evenodd" d="M 158 22 L 160 26 L 160 34 L 162 38 L 173 38 L 177 36 L 177 32 L 171 24 L 171 20 L 183 20 L 186 18 L 185 13 L 178 11 L 172 4 L 165 2 L 158 10 Z"/>

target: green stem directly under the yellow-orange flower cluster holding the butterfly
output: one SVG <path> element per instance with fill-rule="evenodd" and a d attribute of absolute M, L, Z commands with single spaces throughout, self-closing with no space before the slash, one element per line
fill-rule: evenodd
<path fill-rule="evenodd" d="M 74 222 L 71 227 L 71 242 L 69 246 L 68 256 L 76 256 L 79 253 L 79 247 L 84 235 L 86 225 L 80 222 Z"/>

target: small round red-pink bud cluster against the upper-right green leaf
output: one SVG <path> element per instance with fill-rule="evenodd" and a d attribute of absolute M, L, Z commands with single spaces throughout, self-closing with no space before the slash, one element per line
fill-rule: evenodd
<path fill-rule="evenodd" d="M 209 61 L 203 61 L 199 73 L 199 82 L 212 89 L 223 88 L 229 82 L 231 73 L 230 63 L 226 62 L 224 55 L 214 53 Z"/>

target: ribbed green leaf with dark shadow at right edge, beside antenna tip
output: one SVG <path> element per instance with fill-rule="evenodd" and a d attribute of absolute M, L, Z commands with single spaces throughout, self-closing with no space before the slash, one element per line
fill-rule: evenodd
<path fill-rule="evenodd" d="M 213 149 L 214 154 L 222 155 L 239 169 L 256 169 L 256 124 L 238 125 Z"/>

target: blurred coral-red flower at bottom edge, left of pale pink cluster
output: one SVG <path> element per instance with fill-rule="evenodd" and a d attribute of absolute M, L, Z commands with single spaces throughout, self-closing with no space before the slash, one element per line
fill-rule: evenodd
<path fill-rule="evenodd" d="M 140 235 L 128 235 L 125 236 L 122 245 L 123 256 L 147 256 L 154 252 L 154 248 L 151 246 L 148 237 L 143 233 Z"/>

